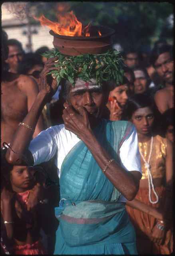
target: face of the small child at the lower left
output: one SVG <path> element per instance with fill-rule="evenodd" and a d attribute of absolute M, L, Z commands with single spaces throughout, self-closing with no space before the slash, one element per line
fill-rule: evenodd
<path fill-rule="evenodd" d="M 10 172 L 12 189 L 17 192 L 24 192 L 34 185 L 33 168 L 28 166 L 14 166 Z"/>

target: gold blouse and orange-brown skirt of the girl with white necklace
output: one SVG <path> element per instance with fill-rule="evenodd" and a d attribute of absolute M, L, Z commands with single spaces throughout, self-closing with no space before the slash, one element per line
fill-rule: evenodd
<path fill-rule="evenodd" d="M 149 158 L 149 152 L 151 148 L 151 138 L 147 142 L 139 142 L 139 151 L 143 154 L 146 162 Z M 166 174 L 166 152 L 167 140 L 159 135 L 153 136 L 153 148 L 151 152 L 151 158 L 149 164 L 151 166 L 151 175 L 154 179 L 165 178 Z M 142 167 L 142 180 L 148 179 L 147 169 L 145 168 L 145 162 L 141 158 Z M 165 187 L 160 186 L 155 188 L 156 193 L 159 196 L 159 201 L 156 204 L 149 202 L 149 190 L 140 188 L 135 199 L 147 204 L 149 206 L 159 208 L 160 205 L 165 201 Z M 155 195 L 151 190 L 151 199 L 156 200 Z M 139 254 L 170 254 L 173 251 L 173 233 L 168 230 L 166 233 L 165 242 L 162 245 L 153 243 L 150 240 L 150 234 L 152 228 L 155 226 L 157 220 L 149 214 L 140 210 L 134 209 L 130 206 L 126 206 L 127 212 L 131 219 L 131 222 L 135 228 L 137 238 L 137 250 Z"/>

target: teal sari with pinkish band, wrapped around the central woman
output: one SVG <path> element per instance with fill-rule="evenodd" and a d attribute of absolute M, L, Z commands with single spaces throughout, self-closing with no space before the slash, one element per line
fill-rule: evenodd
<path fill-rule="evenodd" d="M 102 120 L 94 133 L 119 163 L 119 148 L 132 128 L 130 122 Z M 137 254 L 125 203 L 117 202 L 120 195 L 86 144 L 78 142 L 61 168 L 61 200 L 55 208 L 60 225 L 54 254 Z"/>

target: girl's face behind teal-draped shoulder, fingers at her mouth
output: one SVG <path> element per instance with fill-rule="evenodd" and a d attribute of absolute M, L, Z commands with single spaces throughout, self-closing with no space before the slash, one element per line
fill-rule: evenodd
<path fill-rule="evenodd" d="M 128 99 L 129 88 L 127 84 L 117 86 L 111 92 L 109 92 L 109 98 L 114 98 L 120 107 L 125 106 Z"/>

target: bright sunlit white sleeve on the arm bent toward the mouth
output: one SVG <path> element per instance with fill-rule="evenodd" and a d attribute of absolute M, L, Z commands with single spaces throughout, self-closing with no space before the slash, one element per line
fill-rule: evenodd
<path fill-rule="evenodd" d="M 119 157 L 121 166 L 127 171 L 141 172 L 140 153 L 135 126 L 131 130 L 130 136 L 121 145 Z"/>

